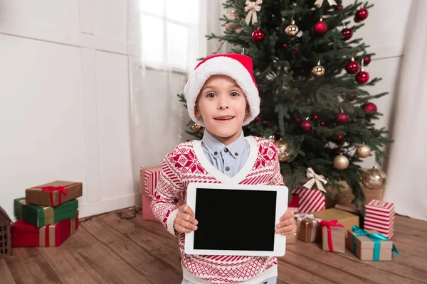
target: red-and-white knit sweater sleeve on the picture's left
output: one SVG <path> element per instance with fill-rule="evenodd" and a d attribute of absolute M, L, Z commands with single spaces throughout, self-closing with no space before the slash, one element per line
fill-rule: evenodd
<path fill-rule="evenodd" d="M 174 151 L 168 153 L 162 163 L 162 173 L 157 183 L 155 198 L 152 200 L 154 217 L 159 219 L 164 227 L 176 236 L 174 220 L 178 214 L 178 202 L 182 198 L 181 192 L 185 187 L 174 167 Z"/>

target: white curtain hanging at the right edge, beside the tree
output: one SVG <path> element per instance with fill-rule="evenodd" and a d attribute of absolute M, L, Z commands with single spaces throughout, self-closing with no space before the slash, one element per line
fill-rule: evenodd
<path fill-rule="evenodd" d="M 396 213 L 427 220 L 427 1 L 413 0 L 394 112 L 384 201 Z"/>

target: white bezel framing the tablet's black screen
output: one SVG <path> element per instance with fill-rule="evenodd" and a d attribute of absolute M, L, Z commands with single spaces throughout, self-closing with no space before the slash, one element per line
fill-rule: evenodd
<path fill-rule="evenodd" d="M 275 210 L 275 226 L 280 222 L 280 217 L 285 214 L 288 209 L 288 187 L 280 185 L 238 185 L 238 184 L 222 184 L 222 183 L 200 183 L 190 182 L 187 187 L 186 204 L 193 209 L 196 214 L 196 190 L 200 188 L 214 188 L 218 190 L 265 190 L 275 191 L 276 195 L 276 210 Z M 261 204 L 260 204 L 261 205 Z M 221 207 L 221 204 L 218 204 Z M 271 228 L 275 230 L 275 226 Z M 247 234 L 247 233 L 246 233 Z M 242 234 L 242 238 L 245 234 Z M 275 234 L 274 250 L 273 251 L 233 251 L 233 250 L 211 250 L 211 249 L 194 249 L 194 231 L 185 234 L 184 252 L 186 254 L 209 255 L 209 256 L 285 256 L 286 236 Z"/>

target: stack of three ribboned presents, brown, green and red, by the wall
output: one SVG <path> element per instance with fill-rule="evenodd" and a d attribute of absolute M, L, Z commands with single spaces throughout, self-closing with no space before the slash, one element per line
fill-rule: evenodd
<path fill-rule="evenodd" d="M 12 247 L 60 246 L 78 229 L 81 182 L 57 180 L 26 189 L 14 200 Z"/>

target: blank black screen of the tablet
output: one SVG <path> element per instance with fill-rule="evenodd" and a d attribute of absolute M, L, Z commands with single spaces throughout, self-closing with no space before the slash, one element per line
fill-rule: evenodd
<path fill-rule="evenodd" d="M 194 249 L 274 251 L 276 195 L 197 189 Z"/>

